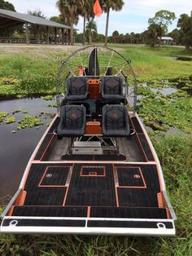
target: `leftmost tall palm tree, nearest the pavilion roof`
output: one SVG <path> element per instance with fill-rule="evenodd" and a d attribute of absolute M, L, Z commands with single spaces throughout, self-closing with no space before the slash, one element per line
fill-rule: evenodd
<path fill-rule="evenodd" d="M 59 0 L 56 3 L 56 6 L 59 8 L 61 13 L 61 19 L 63 22 L 70 24 L 70 42 L 73 45 L 73 25 L 78 23 L 79 12 L 76 4 L 76 0 Z"/>

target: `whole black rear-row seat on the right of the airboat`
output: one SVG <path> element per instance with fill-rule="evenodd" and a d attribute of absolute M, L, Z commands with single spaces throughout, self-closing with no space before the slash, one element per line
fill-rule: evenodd
<path fill-rule="evenodd" d="M 124 99 L 123 80 L 121 77 L 102 78 L 102 98 L 108 100 Z"/>

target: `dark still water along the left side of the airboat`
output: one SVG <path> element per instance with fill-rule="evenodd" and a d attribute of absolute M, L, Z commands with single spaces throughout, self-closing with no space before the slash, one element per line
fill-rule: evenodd
<path fill-rule="evenodd" d="M 39 113 L 56 113 L 56 108 L 48 108 L 47 104 L 55 101 L 43 99 L 14 99 L 0 102 L 0 112 L 11 113 L 15 109 L 22 108 L 28 110 L 29 115 L 39 115 Z M 15 113 L 16 120 L 24 117 L 23 113 Z M 3 196 L 13 196 L 19 188 L 20 180 L 24 174 L 29 157 L 37 146 L 39 139 L 46 130 L 46 124 L 52 117 L 44 119 L 43 126 L 16 130 L 18 123 L 0 125 L 0 203 Z M 11 130 L 16 133 L 12 134 Z"/>

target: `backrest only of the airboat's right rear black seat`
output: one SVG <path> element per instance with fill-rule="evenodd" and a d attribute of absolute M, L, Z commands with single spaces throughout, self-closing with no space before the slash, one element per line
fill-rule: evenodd
<path fill-rule="evenodd" d="M 123 81 L 121 77 L 103 77 L 102 93 L 103 95 L 122 95 Z"/>

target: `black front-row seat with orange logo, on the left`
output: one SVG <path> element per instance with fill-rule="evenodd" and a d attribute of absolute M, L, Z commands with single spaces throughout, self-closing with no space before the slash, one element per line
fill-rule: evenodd
<path fill-rule="evenodd" d="M 58 139 L 85 134 L 86 110 L 84 106 L 66 105 L 61 107 Z"/>

